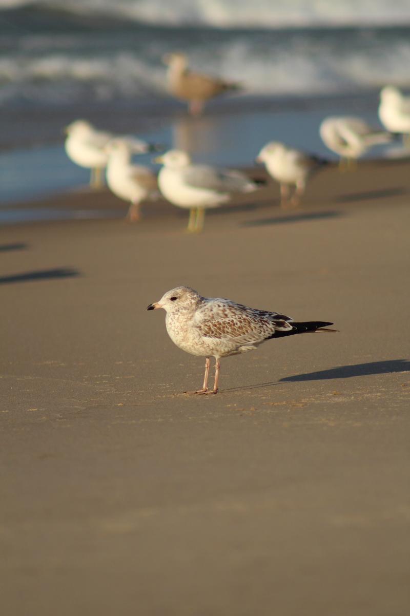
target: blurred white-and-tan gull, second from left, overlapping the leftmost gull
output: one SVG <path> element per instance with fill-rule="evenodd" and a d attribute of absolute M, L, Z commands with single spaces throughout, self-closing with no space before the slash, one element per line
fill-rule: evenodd
<path fill-rule="evenodd" d="M 129 221 L 139 221 L 141 202 L 157 194 L 157 179 L 148 167 L 132 164 L 131 158 L 133 153 L 152 152 L 157 147 L 140 139 L 117 137 L 109 141 L 104 149 L 108 155 L 108 187 L 120 199 L 130 201 L 127 214 Z"/>

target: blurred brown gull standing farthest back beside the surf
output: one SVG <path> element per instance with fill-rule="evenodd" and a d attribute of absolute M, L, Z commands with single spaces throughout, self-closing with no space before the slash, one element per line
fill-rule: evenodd
<path fill-rule="evenodd" d="M 205 101 L 224 92 L 241 88 L 239 83 L 233 81 L 194 73 L 189 70 L 187 57 L 181 52 L 165 54 L 162 61 L 168 65 L 169 91 L 177 99 L 188 101 L 188 110 L 191 115 L 200 115 Z"/>

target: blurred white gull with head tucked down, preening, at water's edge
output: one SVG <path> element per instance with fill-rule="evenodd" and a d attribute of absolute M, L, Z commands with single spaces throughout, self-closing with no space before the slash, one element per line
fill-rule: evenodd
<path fill-rule="evenodd" d="M 352 168 L 356 159 L 374 145 L 387 144 L 393 139 L 389 132 L 375 128 L 361 118 L 349 116 L 325 118 L 319 132 L 329 150 L 341 156 L 341 170 Z"/>

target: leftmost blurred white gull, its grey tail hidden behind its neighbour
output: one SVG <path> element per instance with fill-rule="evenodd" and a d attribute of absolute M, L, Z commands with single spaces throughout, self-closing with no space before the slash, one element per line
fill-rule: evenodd
<path fill-rule="evenodd" d="M 91 169 L 90 186 L 101 188 L 102 171 L 108 161 L 104 147 L 114 135 L 98 131 L 87 120 L 75 120 L 66 126 L 64 132 L 67 135 L 65 150 L 68 158 L 80 167 Z"/>

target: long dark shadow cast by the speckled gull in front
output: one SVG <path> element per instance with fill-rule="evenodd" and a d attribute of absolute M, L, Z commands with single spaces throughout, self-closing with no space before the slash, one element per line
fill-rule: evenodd
<path fill-rule="evenodd" d="M 382 362 L 357 363 L 355 365 L 337 366 L 329 370 L 307 372 L 303 375 L 286 376 L 279 381 L 268 383 L 256 383 L 242 387 L 231 387 L 224 392 L 247 391 L 248 389 L 261 389 L 284 383 L 296 383 L 297 381 L 322 381 L 325 379 L 348 379 L 352 376 L 387 375 L 393 372 L 410 372 L 410 362 L 406 359 L 385 360 Z M 222 392 L 221 392 L 222 393 Z"/>

